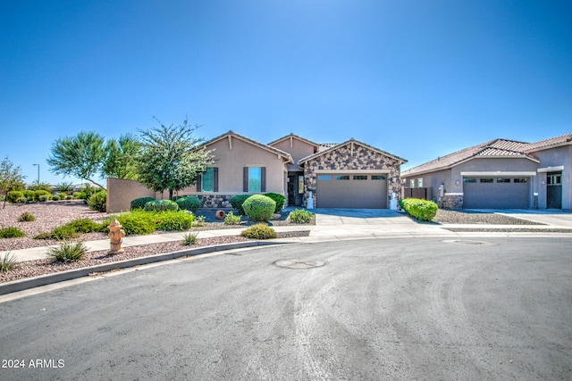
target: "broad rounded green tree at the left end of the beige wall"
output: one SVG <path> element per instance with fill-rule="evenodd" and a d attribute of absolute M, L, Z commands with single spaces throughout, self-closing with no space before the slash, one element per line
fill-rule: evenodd
<path fill-rule="evenodd" d="M 56 175 L 75 176 L 105 189 L 94 178 L 101 172 L 105 157 L 105 138 L 97 132 L 81 131 L 75 137 L 57 139 L 46 162 Z"/>

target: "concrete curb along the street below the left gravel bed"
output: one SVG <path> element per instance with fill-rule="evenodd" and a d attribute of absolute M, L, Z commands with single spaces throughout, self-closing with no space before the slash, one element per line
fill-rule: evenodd
<path fill-rule="evenodd" d="M 90 266 L 82 269 L 71 269 L 53 274 L 40 275 L 38 277 L 29 277 L 26 279 L 14 280 L 0 284 L 0 295 L 12 294 L 18 291 L 27 290 L 38 286 L 51 285 L 53 283 L 63 282 L 78 277 L 87 277 L 89 274 L 97 272 L 106 272 L 114 269 L 128 269 L 134 266 L 145 265 L 161 261 L 171 261 L 181 257 L 189 257 L 206 253 L 223 252 L 232 249 L 242 249 L 248 247 L 267 246 L 273 244 L 290 244 L 288 242 L 278 241 L 248 241 L 233 244 L 218 244 L 213 246 L 203 246 L 196 249 L 181 250 L 172 253 L 162 253 L 149 255 L 147 257 L 133 258 L 125 261 L 116 261 L 96 266 Z"/>

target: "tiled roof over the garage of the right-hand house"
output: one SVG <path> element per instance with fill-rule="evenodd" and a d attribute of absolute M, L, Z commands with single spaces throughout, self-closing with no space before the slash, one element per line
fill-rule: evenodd
<path fill-rule="evenodd" d="M 455 153 L 442 156 L 431 162 L 425 162 L 409 170 L 401 172 L 402 177 L 412 176 L 419 173 L 446 170 L 450 167 L 465 162 L 475 157 L 524 157 L 538 161 L 534 156 L 523 152 L 526 143 L 515 140 L 495 139 L 480 145 L 473 145 Z"/>

